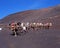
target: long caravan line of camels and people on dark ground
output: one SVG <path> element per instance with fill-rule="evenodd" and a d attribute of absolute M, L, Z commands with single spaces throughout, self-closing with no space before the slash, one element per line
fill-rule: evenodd
<path fill-rule="evenodd" d="M 27 30 L 38 30 L 38 29 L 49 29 L 52 26 L 52 23 L 21 23 L 13 22 L 9 24 L 9 29 L 13 31 L 13 34 L 17 36 L 17 31 L 26 32 Z"/>

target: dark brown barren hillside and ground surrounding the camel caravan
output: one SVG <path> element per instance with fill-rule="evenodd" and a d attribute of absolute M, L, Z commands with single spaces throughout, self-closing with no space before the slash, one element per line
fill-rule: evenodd
<path fill-rule="evenodd" d="M 52 22 L 50 29 L 29 30 L 21 36 L 10 35 L 9 29 L 0 31 L 0 48 L 60 48 L 60 5 L 40 10 L 14 13 L 0 20 L 1 24 L 11 22 Z"/>

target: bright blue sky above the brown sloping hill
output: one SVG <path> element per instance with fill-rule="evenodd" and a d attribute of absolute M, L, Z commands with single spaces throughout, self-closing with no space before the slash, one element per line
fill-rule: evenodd
<path fill-rule="evenodd" d="M 21 11 L 48 8 L 60 4 L 60 0 L 0 0 L 0 19 Z"/>

